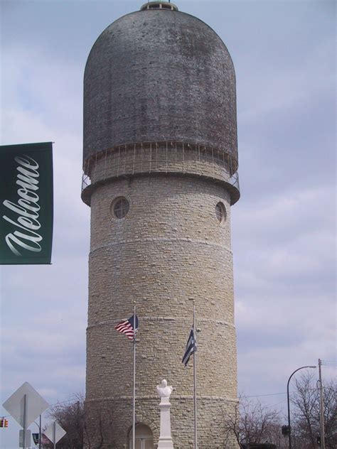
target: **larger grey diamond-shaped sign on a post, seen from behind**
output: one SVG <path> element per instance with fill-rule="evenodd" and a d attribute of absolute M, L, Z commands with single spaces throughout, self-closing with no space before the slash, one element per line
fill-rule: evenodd
<path fill-rule="evenodd" d="M 8 411 L 11 416 L 20 424 L 23 428 L 22 439 L 23 449 L 26 449 L 27 428 L 33 423 L 33 421 L 43 413 L 43 411 L 49 408 L 47 401 L 38 394 L 36 389 L 25 382 L 2 404 L 4 409 Z"/>

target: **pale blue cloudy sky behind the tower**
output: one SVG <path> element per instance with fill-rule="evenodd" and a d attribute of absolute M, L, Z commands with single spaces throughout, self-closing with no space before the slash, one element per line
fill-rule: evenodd
<path fill-rule="evenodd" d="M 55 202 L 52 265 L 0 268 L 0 404 L 23 382 L 49 404 L 85 391 L 83 72 L 100 33 L 141 4 L 0 0 L 0 144 L 54 142 Z M 235 65 L 238 389 L 284 408 L 298 367 L 322 359 L 323 381 L 336 376 L 336 4 L 176 4 L 218 33 Z M 20 427 L 8 419 L 1 449 L 18 447 Z"/>

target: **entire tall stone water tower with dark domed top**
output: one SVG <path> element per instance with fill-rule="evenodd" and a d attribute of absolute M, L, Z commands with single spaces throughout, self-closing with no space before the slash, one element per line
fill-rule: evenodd
<path fill-rule="evenodd" d="M 240 193 L 235 72 L 208 25 L 152 1 L 103 31 L 85 67 L 83 170 L 88 438 L 129 448 L 132 343 L 114 325 L 137 301 L 136 447 L 156 447 L 164 377 L 175 448 L 193 448 L 193 369 L 181 357 L 194 300 L 199 449 L 223 448 L 237 401 L 230 206 Z"/>

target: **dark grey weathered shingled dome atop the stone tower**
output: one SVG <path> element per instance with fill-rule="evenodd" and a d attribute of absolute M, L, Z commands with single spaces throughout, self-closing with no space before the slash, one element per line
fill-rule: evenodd
<path fill-rule="evenodd" d="M 144 9 L 108 26 L 84 79 L 84 160 L 122 144 L 186 141 L 237 160 L 235 72 L 198 18 Z"/>

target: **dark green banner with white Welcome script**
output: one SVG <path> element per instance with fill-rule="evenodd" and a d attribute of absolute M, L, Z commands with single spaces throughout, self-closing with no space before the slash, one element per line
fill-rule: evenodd
<path fill-rule="evenodd" d="M 0 146 L 0 264 L 50 264 L 51 142 Z"/>

